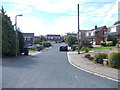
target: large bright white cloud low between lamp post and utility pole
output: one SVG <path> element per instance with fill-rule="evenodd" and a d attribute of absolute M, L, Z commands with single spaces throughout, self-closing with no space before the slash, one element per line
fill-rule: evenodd
<path fill-rule="evenodd" d="M 22 32 L 35 33 L 35 35 L 65 34 L 66 32 L 77 32 L 77 17 L 59 17 L 51 25 L 44 24 L 42 19 L 31 17 L 19 17 L 18 27 Z"/>

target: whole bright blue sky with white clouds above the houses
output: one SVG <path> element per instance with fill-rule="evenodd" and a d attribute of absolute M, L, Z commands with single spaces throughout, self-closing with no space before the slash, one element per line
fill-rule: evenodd
<path fill-rule="evenodd" d="M 109 1 L 109 2 L 108 2 Z M 80 29 L 112 26 L 118 21 L 120 0 L 2 0 L 2 6 L 22 32 L 35 35 L 77 32 L 77 4 L 80 6 Z"/>

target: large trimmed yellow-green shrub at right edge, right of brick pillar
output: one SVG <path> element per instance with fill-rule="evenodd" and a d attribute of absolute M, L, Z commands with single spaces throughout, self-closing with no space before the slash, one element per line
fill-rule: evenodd
<path fill-rule="evenodd" d="M 120 51 L 110 51 L 108 53 L 108 63 L 110 67 L 120 68 Z"/>

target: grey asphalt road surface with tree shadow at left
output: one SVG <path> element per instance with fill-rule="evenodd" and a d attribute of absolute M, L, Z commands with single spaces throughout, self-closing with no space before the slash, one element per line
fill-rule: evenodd
<path fill-rule="evenodd" d="M 60 44 L 2 67 L 3 88 L 118 88 L 118 83 L 84 72 L 68 62 Z"/>

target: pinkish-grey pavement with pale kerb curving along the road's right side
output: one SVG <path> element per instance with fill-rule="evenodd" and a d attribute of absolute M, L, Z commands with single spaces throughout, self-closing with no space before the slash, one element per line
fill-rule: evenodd
<path fill-rule="evenodd" d="M 90 52 L 89 54 L 94 55 L 95 53 L 98 52 Z M 76 51 L 71 51 L 67 54 L 69 62 L 77 68 L 118 82 L 118 69 L 103 66 L 101 64 L 94 64 L 91 60 L 84 58 L 85 53 L 78 54 Z"/>

